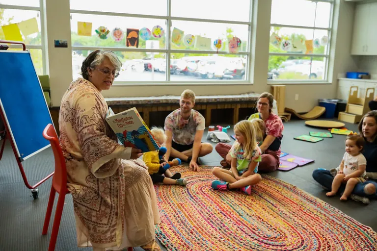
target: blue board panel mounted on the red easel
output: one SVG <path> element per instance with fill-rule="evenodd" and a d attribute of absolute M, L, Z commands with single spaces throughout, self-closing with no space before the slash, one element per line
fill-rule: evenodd
<path fill-rule="evenodd" d="M 21 160 L 50 146 L 42 136 L 53 124 L 28 51 L 0 50 L 0 105 Z M 54 125 L 54 124 L 53 124 Z"/>

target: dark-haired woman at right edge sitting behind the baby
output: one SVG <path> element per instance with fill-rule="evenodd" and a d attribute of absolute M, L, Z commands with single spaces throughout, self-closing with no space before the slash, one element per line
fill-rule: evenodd
<path fill-rule="evenodd" d="M 369 204 L 368 198 L 377 199 L 377 180 L 371 179 L 377 177 L 377 111 L 370 111 L 364 115 L 359 123 L 359 133 L 364 136 L 365 145 L 362 151 L 367 159 L 367 176 L 368 181 L 358 183 L 352 191 L 351 199 L 362 201 Z M 324 188 L 331 190 L 331 184 L 334 177 L 330 171 L 317 169 L 313 171 L 313 178 Z M 339 193 L 343 193 L 345 185 L 339 188 Z"/>

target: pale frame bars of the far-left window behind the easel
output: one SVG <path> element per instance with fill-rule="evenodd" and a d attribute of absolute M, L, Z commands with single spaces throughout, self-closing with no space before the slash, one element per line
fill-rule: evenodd
<path fill-rule="evenodd" d="M 47 74 L 47 48 L 45 44 L 45 34 L 46 34 L 46 27 L 45 27 L 45 13 L 43 9 L 43 1 L 39 0 L 39 7 L 32 7 L 32 6 L 25 6 L 25 5 L 9 5 L 9 4 L 0 4 L 0 9 L 14 9 L 14 10 L 33 10 L 39 11 L 39 18 L 41 22 L 41 45 L 26 45 L 26 49 L 37 49 L 42 50 L 42 74 Z M 8 45 L 10 49 L 22 49 L 22 45 Z"/>

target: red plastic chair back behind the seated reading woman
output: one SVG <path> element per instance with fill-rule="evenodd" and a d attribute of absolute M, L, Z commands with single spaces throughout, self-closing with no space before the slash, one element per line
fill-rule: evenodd
<path fill-rule="evenodd" d="M 55 158 L 55 173 L 53 176 L 53 187 L 59 194 L 67 191 L 67 168 L 65 166 L 65 158 L 61 151 L 59 139 L 53 125 L 49 124 L 43 130 L 43 137 L 50 141 L 51 148 Z"/>

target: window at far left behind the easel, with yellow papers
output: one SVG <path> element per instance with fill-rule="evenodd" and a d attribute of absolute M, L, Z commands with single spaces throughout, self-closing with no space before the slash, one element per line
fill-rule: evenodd
<path fill-rule="evenodd" d="M 0 40 L 23 41 L 38 75 L 46 74 L 41 6 L 41 0 L 0 0 Z M 22 47 L 9 45 L 8 50 Z"/>

